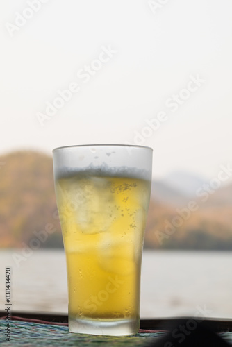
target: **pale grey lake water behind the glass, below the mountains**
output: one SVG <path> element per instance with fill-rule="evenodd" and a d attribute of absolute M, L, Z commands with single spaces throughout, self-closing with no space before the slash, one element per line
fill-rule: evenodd
<path fill-rule="evenodd" d="M 13 254 L 17 262 L 13 259 Z M 0 310 L 4 310 L 5 268 L 12 267 L 13 312 L 67 313 L 64 251 L 0 253 Z M 232 318 L 232 252 L 144 251 L 140 316 Z M 198 314 L 200 315 L 200 314 Z"/>

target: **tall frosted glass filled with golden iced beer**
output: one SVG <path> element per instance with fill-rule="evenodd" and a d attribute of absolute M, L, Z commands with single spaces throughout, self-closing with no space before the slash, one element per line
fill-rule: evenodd
<path fill-rule="evenodd" d="M 152 149 L 83 145 L 53 150 L 69 292 L 69 331 L 133 335 L 151 190 Z"/>

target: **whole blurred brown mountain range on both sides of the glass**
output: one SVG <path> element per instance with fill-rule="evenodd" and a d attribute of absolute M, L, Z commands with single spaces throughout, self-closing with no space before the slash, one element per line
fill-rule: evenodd
<path fill-rule="evenodd" d="M 232 185 L 208 193 L 204 184 L 206 180 L 181 172 L 152 182 L 145 247 L 232 250 Z M 63 247 L 63 239 L 52 158 L 19 151 L 0 157 L 0 246 L 30 244 Z"/>

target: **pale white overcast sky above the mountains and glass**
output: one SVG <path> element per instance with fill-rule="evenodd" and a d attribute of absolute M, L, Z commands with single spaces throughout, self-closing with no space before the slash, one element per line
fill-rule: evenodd
<path fill-rule="evenodd" d="M 232 166 L 231 18 L 231 0 L 1 1 L 1 154 L 143 144 L 155 177 L 214 178 Z"/>

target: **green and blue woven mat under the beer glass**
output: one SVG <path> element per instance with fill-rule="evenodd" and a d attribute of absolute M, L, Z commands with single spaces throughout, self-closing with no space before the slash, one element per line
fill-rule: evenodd
<path fill-rule="evenodd" d="M 6 341 L 6 321 L 0 320 L 1 346 L 81 346 L 136 347 L 147 346 L 165 332 L 140 332 L 128 337 L 71 334 L 65 325 L 11 321 L 10 341 Z M 232 332 L 219 334 L 232 346 Z M 210 347 L 210 346 L 208 346 Z"/>

